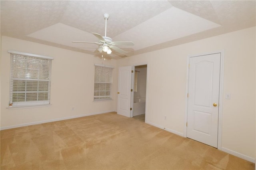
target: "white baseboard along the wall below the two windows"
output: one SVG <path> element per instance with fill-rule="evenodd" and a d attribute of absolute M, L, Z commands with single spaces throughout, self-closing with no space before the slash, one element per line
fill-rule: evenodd
<path fill-rule="evenodd" d="M 76 115 L 76 116 L 70 116 L 70 117 L 62 117 L 62 118 L 58 118 L 58 119 L 50 119 L 50 120 L 46 120 L 46 121 L 38 121 L 38 122 L 32 122 L 32 123 L 24 123 L 24 124 L 20 124 L 20 125 L 12 125 L 12 126 L 8 126 L 8 127 L 1 127 L 0 130 L 6 130 L 6 129 L 10 129 L 10 128 L 18 128 L 18 127 L 26 127 L 26 126 L 30 126 L 30 125 L 38 125 L 41 123 L 49 123 L 49 122 L 56 122 L 56 121 L 63 121 L 63 120 L 67 120 L 67 119 L 74 119 L 74 118 L 78 118 L 78 117 L 86 117 L 86 116 L 92 116 L 92 115 L 99 115 L 99 114 L 103 114 L 103 113 L 109 113 L 109 112 L 114 112 L 114 111 L 103 111 L 103 112 L 96 112 L 96 113 L 89 113 L 89 114 L 84 114 L 84 115 Z"/>

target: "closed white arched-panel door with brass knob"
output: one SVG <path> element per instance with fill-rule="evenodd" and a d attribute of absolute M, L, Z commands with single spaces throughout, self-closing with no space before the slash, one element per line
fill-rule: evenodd
<path fill-rule="evenodd" d="M 190 57 L 187 137 L 216 147 L 220 53 Z"/>

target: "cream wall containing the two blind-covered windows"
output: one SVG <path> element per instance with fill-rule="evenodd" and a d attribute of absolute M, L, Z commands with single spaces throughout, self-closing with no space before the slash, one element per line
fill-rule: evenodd
<path fill-rule="evenodd" d="M 30 109 L 7 109 L 10 86 L 10 53 L 8 50 L 54 57 L 52 61 L 51 106 Z M 82 115 L 116 111 L 116 95 L 113 100 L 93 102 L 94 64 L 115 67 L 113 91 L 117 88 L 116 60 L 65 50 L 15 38 L 2 37 L 1 51 L 1 129 L 30 125 L 36 122 L 65 119 Z M 74 111 L 72 111 L 74 107 Z"/>

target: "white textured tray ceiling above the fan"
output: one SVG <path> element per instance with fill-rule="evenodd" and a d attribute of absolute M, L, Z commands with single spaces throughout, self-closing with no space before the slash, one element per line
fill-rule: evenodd
<path fill-rule="evenodd" d="M 127 56 L 146 53 L 256 25 L 256 1 L 70 0 L 0 1 L 1 35 L 83 53 L 94 53 L 104 36 L 133 41 L 118 46 Z M 122 57 L 118 53 L 111 57 Z"/>

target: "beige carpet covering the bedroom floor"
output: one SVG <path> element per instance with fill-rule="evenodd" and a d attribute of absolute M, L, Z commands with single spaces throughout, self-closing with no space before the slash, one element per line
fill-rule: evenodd
<path fill-rule="evenodd" d="M 1 170 L 254 170 L 254 166 L 116 113 L 1 131 Z"/>

